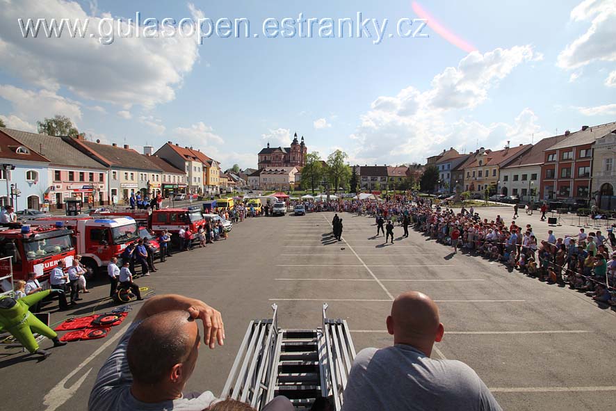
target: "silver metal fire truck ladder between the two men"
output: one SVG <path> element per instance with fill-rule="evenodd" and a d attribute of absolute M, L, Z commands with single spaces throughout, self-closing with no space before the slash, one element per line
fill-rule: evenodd
<path fill-rule="evenodd" d="M 250 321 L 221 398 L 261 410 L 282 395 L 297 410 L 309 410 L 316 398 L 330 397 L 340 410 L 355 359 L 346 321 L 328 319 L 327 304 L 323 304 L 321 327 L 286 330 L 278 327 L 277 305 L 272 309 L 272 319 Z"/>

